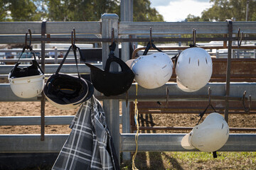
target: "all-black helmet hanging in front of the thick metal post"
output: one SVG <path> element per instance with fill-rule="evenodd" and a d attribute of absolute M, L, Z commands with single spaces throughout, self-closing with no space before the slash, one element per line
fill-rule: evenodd
<path fill-rule="evenodd" d="M 90 78 L 93 86 L 105 96 L 116 96 L 126 92 L 134 80 L 134 72 L 125 62 L 114 56 L 115 42 L 110 45 L 110 55 L 107 59 L 105 70 L 99 69 L 92 64 L 85 63 L 90 67 Z M 117 62 L 121 72 L 110 72 L 111 62 Z"/>

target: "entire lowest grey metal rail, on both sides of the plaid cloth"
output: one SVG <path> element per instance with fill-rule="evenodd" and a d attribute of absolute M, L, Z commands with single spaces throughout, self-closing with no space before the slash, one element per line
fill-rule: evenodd
<path fill-rule="evenodd" d="M 181 140 L 186 134 L 139 134 L 139 152 L 191 152 L 181 147 Z M 60 152 L 68 134 L 45 135 L 45 141 L 38 135 L 0 135 L 1 153 L 18 152 Z M 134 152 L 136 144 L 134 133 L 120 135 L 120 152 Z M 219 150 L 225 152 L 256 152 L 256 134 L 230 134 L 228 142 Z"/>

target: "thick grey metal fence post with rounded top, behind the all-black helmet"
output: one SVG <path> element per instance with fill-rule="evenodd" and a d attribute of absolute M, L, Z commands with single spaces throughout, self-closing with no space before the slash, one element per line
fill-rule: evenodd
<path fill-rule="evenodd" d="M 118 37 L 118 19 L 119 16 L 115 13 L 105 13 L 102 15 L 102 38 L 112 37 L 112 28 L 114 28 L 114 38 Z M 102 42 L 102 65 L 105 67 L 107 57 L 109 55 L 109 42 Z M 119 57 L 118 43 L 114 50 L 114 55 Z M 117 64 L 110 68 L 110 72 L 118 71 Z M 103 100 L 103 108 L 106 115 L 107 126 L 110 129 L 114 147 L 119 157 L 119 100 L 105 99 Z"/>

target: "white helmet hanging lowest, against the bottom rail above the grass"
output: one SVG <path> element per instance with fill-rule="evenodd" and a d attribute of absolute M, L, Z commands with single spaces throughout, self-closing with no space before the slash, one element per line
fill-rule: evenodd
<path fill-rule="evenodd" d="M 184 149 L 199 149 L 203 152 L 215 152 L 225 145 L 229 137 L 228 123 L 219 113 L 210 113 L 203 123 L 196 125 L 183 137 Z"/>

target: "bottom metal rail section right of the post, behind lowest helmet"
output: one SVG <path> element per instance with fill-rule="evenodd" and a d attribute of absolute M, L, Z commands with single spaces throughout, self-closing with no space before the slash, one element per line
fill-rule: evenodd
<path fill-rule="evenodd" d="M 181 140 L 185 134 L 139 134 L 138 150 L 155 152 L 191 152 L 197 149 L 186 150 L 181 147 Z M 122 134 L 120 150 L 123 152 L 135 151 L 134 134 Z M 219 151 L 255 152 L 256 134 L 230 134 L 228 142 Z"/>

